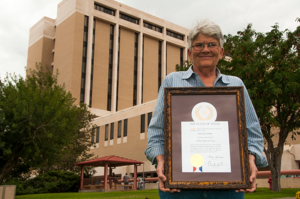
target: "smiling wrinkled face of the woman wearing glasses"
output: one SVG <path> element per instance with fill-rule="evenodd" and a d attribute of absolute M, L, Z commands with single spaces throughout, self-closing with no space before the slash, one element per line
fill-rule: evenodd
<path fill-rule="evenodd" d="M 196 39 L 193 41 L 192 46 L 196 46 L 198 43 L 204 43 L 204 48 L 202 50 L 195 50 L 192 47 L 192 51 L 187 49 L 187 54 L 190 60 L 193 61 L 193 66 L 196 68 L 209 68 L 209 67 L 216 67 L 219 59 L 223 57 L 224 48 L 217 49 L 209 49 L 208 43 L 210 42 L 217 42 L 219 41 L 214 37 L 208 37 L 204 34 L 199 34 Z"/>

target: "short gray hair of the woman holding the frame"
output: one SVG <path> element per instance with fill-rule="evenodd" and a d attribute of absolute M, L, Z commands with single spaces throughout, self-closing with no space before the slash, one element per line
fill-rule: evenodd
<path fill-rule="evenodd" d="M 208 19 L 201 19 L 196 21 L 193 27 L 190 29 L 190 33 L 187 38 L 187 47 L 192 51 L 192 43 L 198 36 L 198 34 L 204 34 L 208 37 L 214 37 L 220 43 L 220 48 L 223 47 L 224 37 L 220 26 Z"/>

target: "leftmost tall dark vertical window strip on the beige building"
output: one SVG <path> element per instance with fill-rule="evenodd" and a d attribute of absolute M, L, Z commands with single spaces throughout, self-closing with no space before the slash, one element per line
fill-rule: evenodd
<path fill-rule="evenodd" d="M 81 67 L 81 86 L 80 86 L 80 103 L 84 103 L 85 97 L 85 73 L 86 59 L 88 53 L 88 16 L 84 16 L 83 47 L 82 47 L 82 67 Z"/>

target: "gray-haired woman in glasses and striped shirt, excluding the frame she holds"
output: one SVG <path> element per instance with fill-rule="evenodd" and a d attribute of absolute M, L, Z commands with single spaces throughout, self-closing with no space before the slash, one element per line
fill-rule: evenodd
<path fill-rule="evenodd" d="M 216 67 L 223 56 L 223 42 L 222 31 L 214 22 L 208 19 L 196 22 L 190 30 L 187 49 L 193 65 L 187 71 L 170 73 L 161 85 L 154 114 L 148 127 L 148 148 L 145 150 L 147 158 L 156 167 L 160 198 L 244 198 L 244 193 L 256 190 L 257 167 L 268 165 L 262 155 L 264 140 L 259 121 L 244 83 L 238 77 L 221 74 Z M 164 175 L 164 88 L 204 86 L 244 86 L 251 189 L 170 190 L 164 188 L 166 181 Z"/>

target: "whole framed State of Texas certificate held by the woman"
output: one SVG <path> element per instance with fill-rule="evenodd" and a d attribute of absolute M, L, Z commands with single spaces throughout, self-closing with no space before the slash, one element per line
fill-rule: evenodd
<path fill-rule="evenodd" d="M 243 87 L 165 88 L 170 189 L 249 189 Z"/>

